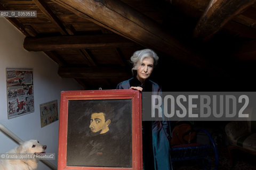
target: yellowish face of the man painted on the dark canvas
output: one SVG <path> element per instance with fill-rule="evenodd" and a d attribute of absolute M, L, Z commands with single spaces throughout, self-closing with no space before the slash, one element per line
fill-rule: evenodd
<path fill-rule="evenodd" d="M 93 133 L 100 132 L 100 134 L 106 133 L 109 131 L 108 125 L 110 124 L 110 120 L 105 120 L 105 114 L 93 113 L 91 115 L 91 123 L 90 129 Z"/>

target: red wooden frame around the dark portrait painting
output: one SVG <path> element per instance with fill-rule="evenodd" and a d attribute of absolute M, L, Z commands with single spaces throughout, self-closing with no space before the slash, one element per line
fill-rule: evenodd
<path fill-rule="evenodd" d="M 132 100 L 132 168 L 67 166 L 68 101 L 97 99 Z M 58 170 L 63 169 L 105 169 L 142 170 L 142 114 L 141 93 L 137 90 L 85 90 L 62 91 L 59 117 Z"/>

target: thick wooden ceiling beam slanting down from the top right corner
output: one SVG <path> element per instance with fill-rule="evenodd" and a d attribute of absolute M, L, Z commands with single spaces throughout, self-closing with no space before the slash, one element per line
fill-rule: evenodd
<path fill-rule="evenodd" d="M 194 37 L 208 40 L 256 0 L 211 0 L 194 30 Z"/>

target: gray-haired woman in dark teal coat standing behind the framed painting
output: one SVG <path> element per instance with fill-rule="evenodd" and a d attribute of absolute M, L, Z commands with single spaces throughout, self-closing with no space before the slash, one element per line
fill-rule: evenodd
<path fill-rule="evenodd" d="M 135 52 L 131 57 L 133 78 L 123 81 L 116 89 L 134 89 L 161 93 L 157 83 L 149 80 L 158 61 L 157 54 L 151 49 Z M 169 124 L 166 121 L 142 122 L 143 169 L 172 169 L 169 154 Z"/>

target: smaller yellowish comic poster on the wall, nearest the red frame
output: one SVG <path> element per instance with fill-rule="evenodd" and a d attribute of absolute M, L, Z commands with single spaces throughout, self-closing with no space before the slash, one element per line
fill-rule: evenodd
<path fill-rule="evenodd" d="M 41 128 L 58 121 L 58 100 L 50 101 L 40 105 Z"/>

